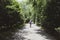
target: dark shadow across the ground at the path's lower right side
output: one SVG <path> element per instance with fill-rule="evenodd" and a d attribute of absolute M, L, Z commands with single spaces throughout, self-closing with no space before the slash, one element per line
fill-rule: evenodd
<path fill-rule="evenodd" d="M 50 32 L 46 32 L 44 30 L 37 30 L 38 34 L 42 35 L 42 36 L 46 36 L 46 39 L 50 39 L 50 40 L 60 40 L 60 33 L 57 31 L 52 31 Z"/>

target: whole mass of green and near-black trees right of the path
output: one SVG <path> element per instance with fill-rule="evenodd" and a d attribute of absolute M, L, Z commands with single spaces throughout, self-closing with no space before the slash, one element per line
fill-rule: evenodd
<path fill-rule="evenodd" d="M 60 1 L 59 0 L 29 0 L 33 5 L 32 19 L 37 25 L 46 30 L 55 30 L 60 27 Z"/>

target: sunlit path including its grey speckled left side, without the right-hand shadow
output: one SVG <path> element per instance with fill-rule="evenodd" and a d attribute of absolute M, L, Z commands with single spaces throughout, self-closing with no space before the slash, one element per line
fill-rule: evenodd
<path fill-rule="evenodd" d="M 32 24 L 31 28 L 30 28 L 30 24 L 26 24 L 25 28 L 23 30 L 19 30 L 15 34 L 15 36 L 17 36 L 18 39 L 20 38 L 22 40 L 50 40 L 47 39 L 46 36 L 42 36 L 41 34 L 38 34 L 37 32 L 41 32 L 41 31 L 37 31 L 39 29 L 40 28 L 35 24 Z"/>

